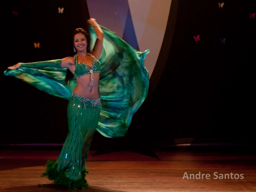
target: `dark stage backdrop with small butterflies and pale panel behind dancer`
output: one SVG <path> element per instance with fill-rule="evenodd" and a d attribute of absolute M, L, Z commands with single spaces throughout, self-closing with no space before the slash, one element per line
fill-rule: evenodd
<path fill-rule="evenodd" d="M 247 142 L 254 108 L 255 7 L 252 0 L 12 1 L 1 69 L 64 58 L 71 32 L 96 18 L 135 49 L 150 50 L 149 94 L 132 119 L 128 140 Z M 13 77 L 1 79 L 1 144 L 63 143 L 67 101 Z M 104 139 L 96 132 L 92 147 L 112 140 Z"/>

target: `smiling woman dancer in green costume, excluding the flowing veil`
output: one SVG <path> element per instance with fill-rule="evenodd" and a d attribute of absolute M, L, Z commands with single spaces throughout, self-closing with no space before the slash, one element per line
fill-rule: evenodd
<path fill-rule="evenodd" d="M 99 57 L 102 51 L 103 32 L 95 19 L 89 19 L 97 40 L 90 51 L 86 36 L 87 32 L 77 28 L 73 32 L 74 57 L 47 62 L 17 63 L 8 69 L 55 67 L 67 68 L 72 72 L 77 85 L 73 89 L 67 107 L 68 135 L 56 163 L 48 161 L 47 171 L 42 176 L 54 180 L 55 184 L 68 188 L 83 189 L 87 187 L 85 161 L 90 143 L 100 115 L 99 91 Z M 88 53 L 90 51 L 90 53 Z M 73 77 L 66 75 L 66 83 Z"/>

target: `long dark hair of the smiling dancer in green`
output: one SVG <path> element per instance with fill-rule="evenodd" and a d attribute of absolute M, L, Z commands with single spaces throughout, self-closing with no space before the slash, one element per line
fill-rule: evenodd
<path fill-rule="evenodd" d="M 73 41 L 74 41 L 74 36 L 75 36 L 75 34 L 77 34 L 77 33 L 82 33 L 82 34 L 84 34 L 85 35 L 85 37 L 86 37 L 86 40 L 87 40 L 87 50 L 86 50 L 86 52 L 87 53 L 90 53 L 90 40 L 91 40 L 91 38 L 90 38 L 90 35 L 89 35 L 89 33 L 87 33 L 86 32 L 86 30 L 84 30 L 83 28 L 76 28 L 74 31 L 73 31 L 73 33 L 72 33 L 72 38 L 70 39 L 70 42 L 69 42 L 69 47 L 68 47 L 68 55 L 69 56 L 74 56 L 75 54 L 76 54 L 76 52 L 74 52 L 74 43 L 73 43 Z M 67 70 L 67 72 L 66 72 L 66 77 L 65 77 L 65 80 L 64 80 L 64 84 L 70 84 L 70 81 L 72 80 L 74 78 L 74 75 L 73 75 L 73 73 L 71 72 L 71 71 L 69 71 L 69 70 Z"/>

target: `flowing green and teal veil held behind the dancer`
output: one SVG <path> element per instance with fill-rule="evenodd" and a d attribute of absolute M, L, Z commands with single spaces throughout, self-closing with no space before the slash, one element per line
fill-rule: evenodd
<path fill-rule="evenodd" d="M 144 66 L 144 58 L 149 50 L 140 52 L 106 27 L 104 32 L 99 88 L 101 112 L 97 131 L 105 137 L 124 137 L 133 117 L 148 94 L 149 74 Z M 96 34 L 90 27 L 91 44 L 96 42 Z M 69 100 L 76 80 L 64 85 L 67 69 L 25 68 L 6 70 L 4 74 L 21 79 L 36 88 L 60 98 Z"/>

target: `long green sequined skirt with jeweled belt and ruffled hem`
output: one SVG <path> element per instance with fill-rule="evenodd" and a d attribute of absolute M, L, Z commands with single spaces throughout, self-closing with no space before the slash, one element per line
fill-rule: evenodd
<path fill-rule="evenodd" d="M 97 129 L 101 104 L 100 98 L 90 100 L 72 93 L 67 108 L 68 134 L 56 162 L 48 161 L 46 176 L 54 184 L 67 189 L 85 189 L 85 163 L 91 140 Z"/>

